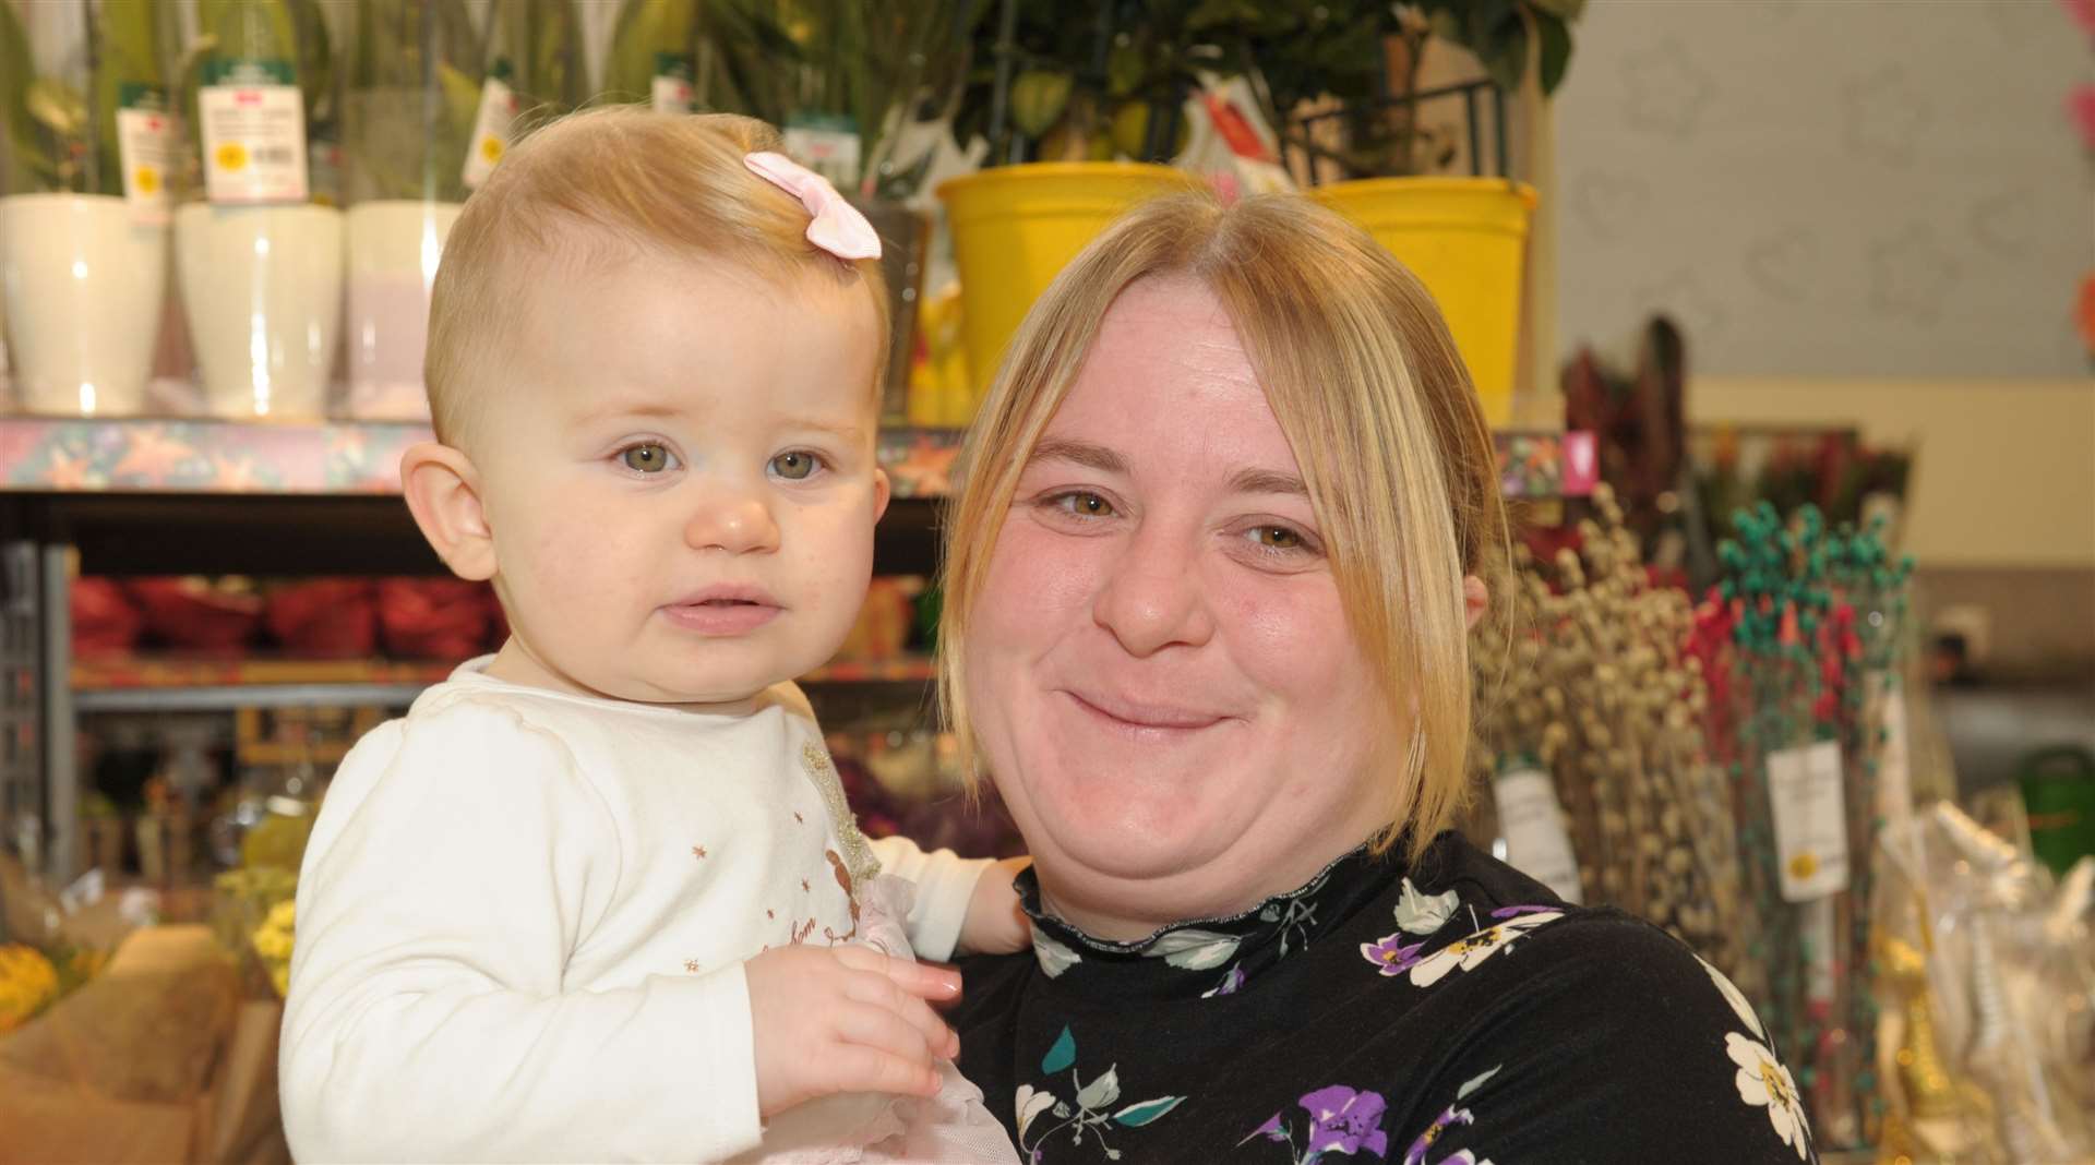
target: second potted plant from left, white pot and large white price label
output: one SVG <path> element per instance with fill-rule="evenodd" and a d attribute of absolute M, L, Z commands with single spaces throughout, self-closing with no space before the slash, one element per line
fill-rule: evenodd
<path fill-rule="evenodd" d="M 201 195 L 176 266 L 205 406 L 318 419 L 341 325 L 333 38 L 316 0 L 197 0 L 184 107 Z"/>

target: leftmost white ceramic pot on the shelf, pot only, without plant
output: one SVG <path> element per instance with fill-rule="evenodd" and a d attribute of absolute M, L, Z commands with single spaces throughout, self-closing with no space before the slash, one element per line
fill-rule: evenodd
<path fill-rule="evenodd" d="M 168 289 L 168 226 L 115 195 L 0 199 L 15 396 L 29 413 L 124 417 L 145 409 Z"/>

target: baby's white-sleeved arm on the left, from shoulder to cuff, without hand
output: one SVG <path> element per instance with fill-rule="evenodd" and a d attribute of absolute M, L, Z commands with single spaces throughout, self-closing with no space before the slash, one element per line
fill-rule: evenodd
<path fill-rule="evenodd" d="M 564 983 L 620 878 L 610 809 L 566 748 L 463 704 L 358 752 L 297 895 L 281 1077 L 302 1161 L 710 1161 L 758 1142 L 742 966 Z"/>

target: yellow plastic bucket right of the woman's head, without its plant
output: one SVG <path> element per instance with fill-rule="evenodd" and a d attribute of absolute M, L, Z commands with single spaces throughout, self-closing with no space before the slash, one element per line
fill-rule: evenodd
<path fill-rule="evenodd" d="M 1309 195 L 1374 235 L 1433 291 L 1485 419 L 1510 423 L 1536 189 L 1504 178 L 1360 178 Z"/>

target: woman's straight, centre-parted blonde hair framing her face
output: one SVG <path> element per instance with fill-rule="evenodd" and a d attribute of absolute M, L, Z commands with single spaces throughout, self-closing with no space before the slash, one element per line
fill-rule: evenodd
<path fill-rule="evenodd" d="M 1376 851 L 1406 832 L 1416 851 L 1462 803 L 1462 576 L 1496 582 L 1506 555 L 1492 432 L 1425 285 L 1358 226 L 1295 195 L 1221 205 L 1194 193 L 1135 207 L 1056 277 L 1012 339 L 962 450 L 945 528 L 939 696 L 970 777 L 966 641 L 1018 476 L 1115 298 L 1161 274 L 1194 277 L 1221 300 L 1295 450 L 1347 622 L 1381 668 L 1391 723 L 1410 729 Z"/>

